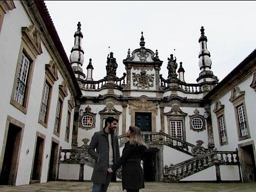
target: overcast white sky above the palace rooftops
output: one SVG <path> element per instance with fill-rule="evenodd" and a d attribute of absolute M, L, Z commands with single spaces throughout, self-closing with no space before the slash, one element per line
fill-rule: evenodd
<path fill-rule="evenodd" d="M 106 76 L 107 56 L 114 52 L 117 76 L 123 76 L 127 50 L 139 48 L 141 31 L 145 47 L 163 61 L 160 74 L 168 76 L 167 58 L 176 49 L 183 62 L 186 83 L 197 83 L 200 28 L 204 26 L 212 71 L 220 81 L 256 48 L 255 1 L 46 1 L 67 57 L 74 45 L 77 23 L 84 35 L 86 67 L 93 78 Z"/>

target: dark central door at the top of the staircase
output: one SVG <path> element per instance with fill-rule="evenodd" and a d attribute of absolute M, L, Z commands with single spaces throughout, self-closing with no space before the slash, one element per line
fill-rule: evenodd
<path fill-rule="evenodd" d="M 140 131 L 152 131 L 151 113 L 135 112 L 135 126 L 140 128 Z"/>

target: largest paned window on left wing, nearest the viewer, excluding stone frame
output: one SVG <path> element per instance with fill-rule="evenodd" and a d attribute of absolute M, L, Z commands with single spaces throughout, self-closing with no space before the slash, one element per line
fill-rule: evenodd
<path fill-rule="evenodd" d="M 18 77 L 17 77 L 17 85 L 16 85 L 14 98 L 13 98 L 22 106 L 24 105 L 29 64 L 30 64 L 30 61 L 28 60 L 26 55 L 22 53 L 21 60 L 20 60 L 20 67 L 18 71 Z"/>

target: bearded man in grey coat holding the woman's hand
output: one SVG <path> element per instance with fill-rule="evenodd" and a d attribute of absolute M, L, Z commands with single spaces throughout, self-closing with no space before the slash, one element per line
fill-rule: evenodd
<path fill-rule="evenodd" d="M 108 173 L 107 170 L 120 158 L 118 138 L 115 134 L 117 123 L 118 119 L 108 117 L 103 130 L 94 133 L 89 145 L 88 152 L 95 160 L 92 192 L 106 192 L 111 178 L 116 181 L 115 173 Z"/>

